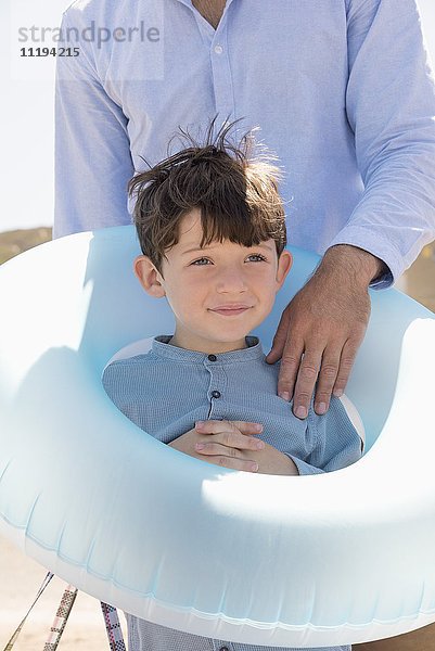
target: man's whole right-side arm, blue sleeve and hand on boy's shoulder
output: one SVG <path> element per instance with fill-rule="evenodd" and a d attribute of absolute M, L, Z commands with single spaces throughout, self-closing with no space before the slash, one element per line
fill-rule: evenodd
<path fill-rule="evenodd" d="M 370 317 L 435 237 L 435 91 L 413 0 L 347 0 L 347 119 L 364 193 L 315 276 L 283 312 L 268 361 L 306 418 L 343 393 Z M 340 245 L 340 246 L 338 246 Z"/>

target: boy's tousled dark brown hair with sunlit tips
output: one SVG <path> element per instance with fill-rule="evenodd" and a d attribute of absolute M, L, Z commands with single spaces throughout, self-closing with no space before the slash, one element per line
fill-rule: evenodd
<path fill-rule="evenodd" d="M 142 253 L 161 272 L 165 252 L 178 242 L 181 218 L 193 208 L 201 210 L 201 246 L 227 239 L 253 246 L 273 239 L 280 255 L 286 244 L 278 192 L 282 173 L 272 164 L 277 157 L 264 146 L 251 157 L 254 148 L 258 150 L 252 131 L 239 145 L 231 143 L 227 136 L 239 120 L 221 127 L 214 138 L 215 122 L 216 117 L 202 144 L 179 127 L 189 146 L 149 165 L 128 184 L 129 195 L 136 197 L 133 219 Z"/>

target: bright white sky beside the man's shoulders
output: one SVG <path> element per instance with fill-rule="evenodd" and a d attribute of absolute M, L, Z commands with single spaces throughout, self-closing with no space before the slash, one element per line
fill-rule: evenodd
<path fill-rule="evenodd" d="M 0 231 L 53 222 L 54 58 L 22 58 L 20 50 L 29 47 L 29 26 L 55 28 L 71 1 L 0 0 Z M 418 2 L 435 63 L 435 0 Z"/>

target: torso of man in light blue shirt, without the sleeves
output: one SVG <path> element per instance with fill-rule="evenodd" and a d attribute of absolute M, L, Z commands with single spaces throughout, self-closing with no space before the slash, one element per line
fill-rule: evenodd
<path fill-rule="evenodd" d="M 166 157 L 178 125 L 201 138 L 215 115 L 217 127 L 241 118 L 235 140 L 259 126 L 257 139 L 285 171 L 290 243 L 323 253 L 363 189 L 345 111 L 345 1 L 217 5 L 213 12 L 204 1 L 89 0 L 66 15 L 84 27 L 94 21 L 111 31 L 139 29 L 131 42 L 81 44 L 123 110 L 136 170 L 145 167 L 142 156 L 151 165 Z M 149 28 L 158 28 L 155 42 Z M 174 140 L 169 153 L 181 146 Z"/>

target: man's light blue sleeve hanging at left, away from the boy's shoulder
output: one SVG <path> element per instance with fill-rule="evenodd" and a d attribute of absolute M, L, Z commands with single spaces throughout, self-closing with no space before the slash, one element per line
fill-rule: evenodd
<path fill-rule="evenodd" d="M 64 14 L 63 34 L 84 28 L 76 20 Z M 131 221 L 127 118 L 103 88 L 91 46 L 81 40 L 78 56 L 57 58 L 54 237 Z"/>

